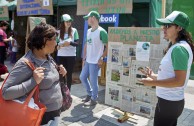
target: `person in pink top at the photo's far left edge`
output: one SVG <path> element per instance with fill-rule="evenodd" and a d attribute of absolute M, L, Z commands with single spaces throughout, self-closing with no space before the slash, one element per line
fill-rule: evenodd
<path fill-rule="evenodd" d="M 8 28 L 9 23 L 7 21 L 0 21 L 0 64 L 4 65 L 4 61 L 6 59 L 6 44 L 11 41 L 12 38 L 7 38 L 7 34 L 5 33 Z"/>

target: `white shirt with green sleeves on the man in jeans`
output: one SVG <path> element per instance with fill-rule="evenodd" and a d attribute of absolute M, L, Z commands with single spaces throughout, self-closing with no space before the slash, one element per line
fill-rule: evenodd
<path fill-rule="evenodd" d="M 95 31 L 92 31 L 92 28 L 88 29 L 86 61 L 88 63 L 97 64 L 103 54 L 104 45 L 107 43 L 108 34 L 102 27 L 98 26 Z"/>

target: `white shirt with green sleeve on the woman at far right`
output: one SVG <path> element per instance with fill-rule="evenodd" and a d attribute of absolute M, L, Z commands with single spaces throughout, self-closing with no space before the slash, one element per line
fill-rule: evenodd
<path fill-rule="evenodd" d="M 182 87 L 165 88 L 156 87 L 156 95 L 160 98 L 179 101 L 184 99 L 184 88 L 187 85 L 191 64 L 193 61 L 193 53 L 186 41 L 180 41 L 174 44 L 163 57 L 159 70 L 157 80 L 164 80 L 175 77 L 175 70 L 187 71 L 185 83 Z"/>

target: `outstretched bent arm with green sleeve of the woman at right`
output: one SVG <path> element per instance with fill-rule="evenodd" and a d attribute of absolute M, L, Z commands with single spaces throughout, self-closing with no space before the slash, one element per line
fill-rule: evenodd
<path fill-rule="evenodd" d="M 180 59 L 181 57 L 181 59 Z M 173 49 L 171 54 L 172 65 L 175 72 L 174 78 L 164 80 L 153 80 L 150 78 L 142 79 L 145 85 L 148 86 L 160 86 L 160 87 L 181 87 L 184 85 L 188 69 L 189 54 L 187 50 L 182 46 L 177 46 Z"/>

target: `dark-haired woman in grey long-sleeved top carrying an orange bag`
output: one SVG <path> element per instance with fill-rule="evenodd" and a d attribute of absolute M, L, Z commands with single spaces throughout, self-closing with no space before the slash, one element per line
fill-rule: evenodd
<path fill-rule="evenodd" d="M 15 64 L 2 88 L 3 98 L 24 101 L 26 95 L 39 84 L 39 99 L 47 108 L 41 125 L 49 123 L 57 126 L 62 107 L 59 74 L 65 76 L 67 71 L 63 65 L 58 71 L 50 56 L 56 46 L 55 28 L 41 22 L 30 33 L 27 46 L 30 50 Z M 23 58 L 31 61 L 36 69 L 32 71 Z"/>

